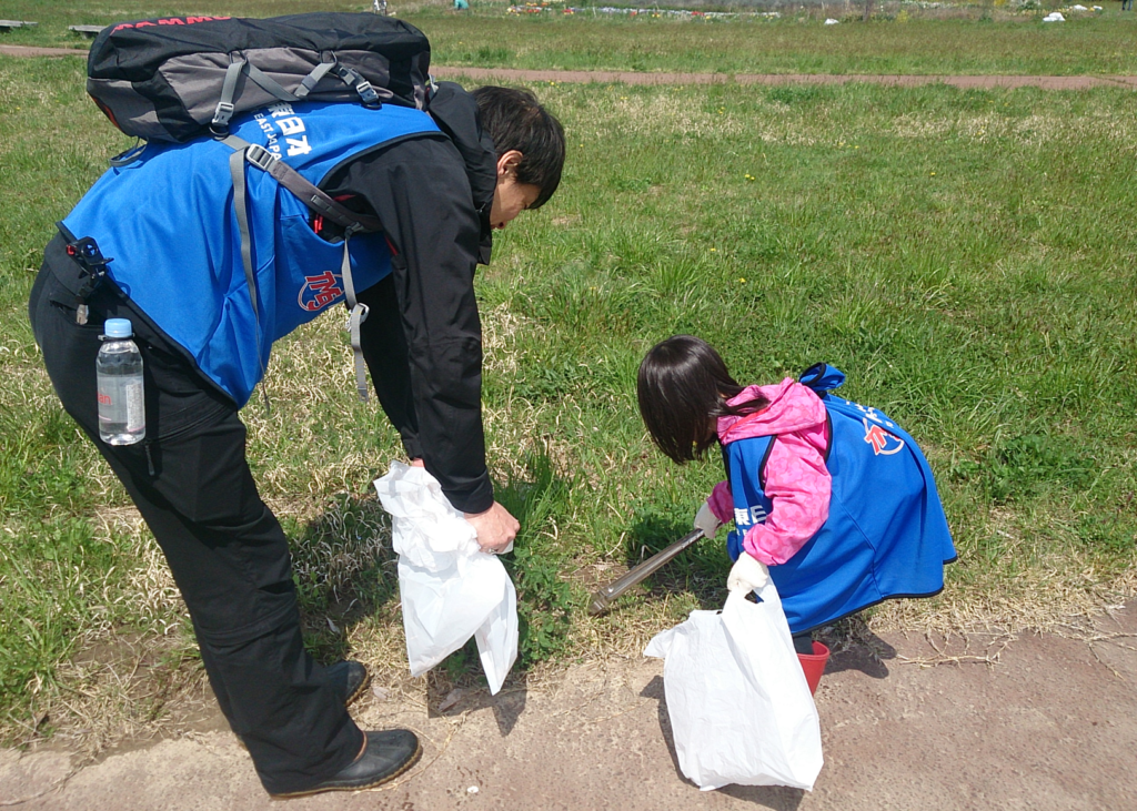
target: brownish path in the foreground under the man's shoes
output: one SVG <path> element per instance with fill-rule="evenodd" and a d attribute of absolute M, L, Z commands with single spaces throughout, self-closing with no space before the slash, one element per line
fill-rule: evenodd
<path fill-rule="evenodd" d="M 1137 603 L 1096 628 L 1090 642 L 1046 635 L 1009 645 L 972 636 L 932 647 L 885 635 L 835 654 L 818 692 L 825 766 L 808 794 L 700 793 L 686 781 L 673 760 L 662 664 L 637 660 L 579 666 L 554 685 L 515 685 L 496 699 L 471 691 L 442 713 L 414 699 L 368 696 L 354 710 L 360 724 L 417 730 L 421 764 L 385 789 L 288 808 L 1132 809 Z M 32 797 L 18 808 L 282 808 L 227 731 L 124 751 L 57 786 L 70 768 L 64 752 L 0 752 L 0 805 Z"/>

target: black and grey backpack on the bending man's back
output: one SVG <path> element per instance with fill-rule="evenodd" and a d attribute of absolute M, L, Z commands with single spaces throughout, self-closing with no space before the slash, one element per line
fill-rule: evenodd
<path fill-rule="evenodd" d="M 224 135 L 230 118 L 274 101 L 393 102 L 425 109 L 430 43 L 375 14 L 268 19 L 166 17 L 103 28 L 86 92 L 127 135 Z"/>

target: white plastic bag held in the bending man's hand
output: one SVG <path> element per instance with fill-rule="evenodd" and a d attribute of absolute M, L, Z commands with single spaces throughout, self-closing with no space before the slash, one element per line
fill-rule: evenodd
<path fill-rule="evenodd" d="M 517 592 L 501 561 L 481 551 L 474 527 L 425 468 L 392 461 L 375 491 L 392 518 L 410 675 L 473 636 L 497 693 L 517 659 Z"/>

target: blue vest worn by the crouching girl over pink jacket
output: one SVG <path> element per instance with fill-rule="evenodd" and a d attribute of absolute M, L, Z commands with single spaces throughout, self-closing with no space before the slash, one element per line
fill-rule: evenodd
<path fill-rule="evenodd" d="M 832 496 L 821 529 L 788 561 L 770 567 L 795 634 L 889 597 L 938 594 L 944 563 L 955 560 L 923 453 L 882 412 L 827 393 L 844 382 L 845 375 L 830 366 L 813 367 L 802 377 L 829 415 L 825 467 Z M 742 552 L 747 529 L 770 515 L 763 469 L 774 438 L 723 446 L 737 526 L 727 538 L 731 560 Z"/>

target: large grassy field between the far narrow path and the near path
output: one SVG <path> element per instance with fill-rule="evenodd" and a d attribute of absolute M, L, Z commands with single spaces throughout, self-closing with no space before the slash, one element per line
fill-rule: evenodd
<path fill-rule="evenodd" d="M 464 20 L 435 22 L 458 42 Z M 160 555 L 61 413 L 26 323 L 52 223 L 128 143 L 82 70 L 0 58 L 0 731 L 16 741 L 152 724 L 200 678 Z M 479 286 L 491 466 L 523 520 L 507 560 L 525 667 L 636 653 L 722 597 L 725 554 L 704 543 L 611 617 L 584 616 L 588 591 L 680 535 L 720 478 L 665 462 L 636 415 L 639 359 L 674 332 L 747 382 L 832 362 L 848 396 L 921 441 L 961 560 L 943 597 L 885 607 L 877 627 L 1045 627 L 1134 594 L 1132 91 L 534 90 L 570 164 Z M 395 683 L 370 482 L 397 442 L 355 401 L 340 326 L 280 344 L 272 413 L 244 413 L 249 454 L 294 540 L 313 646 Z M 435 678 L 475 677 L 458 655 Z"/>

